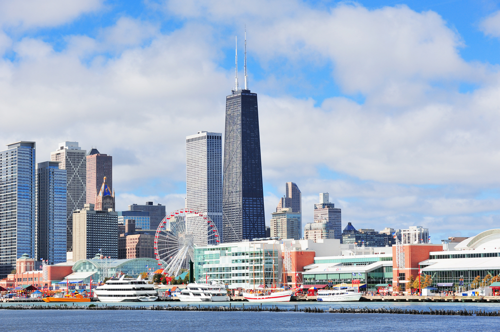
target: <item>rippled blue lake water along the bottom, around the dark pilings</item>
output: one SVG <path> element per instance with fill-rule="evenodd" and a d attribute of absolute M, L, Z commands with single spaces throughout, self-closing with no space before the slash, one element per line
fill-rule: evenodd
<path fill-rule="evenodd" d="M 101 303 L 95 303 L 101 306 Z M 185 303 L 155 302 L 154 305 Z M 198 305 L 199 303 L 192 303 Z M 46 304 L 50 305 L 50 304 Z M 80 304 L 81 305 L 81 304 Z M 113 304 L 108 304 L 113 305 Z M 120 305 L 123 305 L 121 303 Z M 151 306 L 127 303 L 126 305 Z M 228 303 L 201 306 L 229 306 Z M 231 303 L 240 307 L 243 303 Z M 244 303 L 245 307 L 251 306 Z M 500 310 L 500 303 L 276 303 L 279 308 L 402 308 L 415 310 Z M 5 304 L 2 304 L 4 307 Z M 427 316 L 390 314 L 309 314 L 269 312 L 166 312 L 88 310 L 0 310 L 0 331 L 498 331 L 500 317 Z"/>

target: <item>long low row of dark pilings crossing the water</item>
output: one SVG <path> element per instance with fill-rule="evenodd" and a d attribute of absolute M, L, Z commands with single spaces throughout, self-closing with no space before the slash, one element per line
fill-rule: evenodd
<path fill-rule="evenodd" d="M 401 308 L 329 308 L 327 310 L 306 307 L 298 308 L 279 308 L 277 305 L 270 307 L 262 305 L 252 306 L 122 306 L 122 305 L 67 305 L 58 304 L 52 306 L 38 306 L 38 305 L 17 305 L 17 306 L 1 306 L 0 310 L 125 310 L 125 311 L 175 311 L 175 312 L 297 312 L 297 313 L 331 313 L 331 314 L 395 314 L 395 315 L 434 315 L 434 316 L 482 316 L 482 317 L 500 317 L 500 311 L 485 311 L 485 310 L 444 310 L 444 309 L 401 309 Z"/>

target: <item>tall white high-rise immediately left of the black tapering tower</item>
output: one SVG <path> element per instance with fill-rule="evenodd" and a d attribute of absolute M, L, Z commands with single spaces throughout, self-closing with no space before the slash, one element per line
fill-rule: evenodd
<path fill-rule="evenodd" d="M 186 136 L 186 208 L 206 213 L 222 239 L 222 134 Z M 206 224 L 193 225 L 195 241 L 206 243 Z"/>

